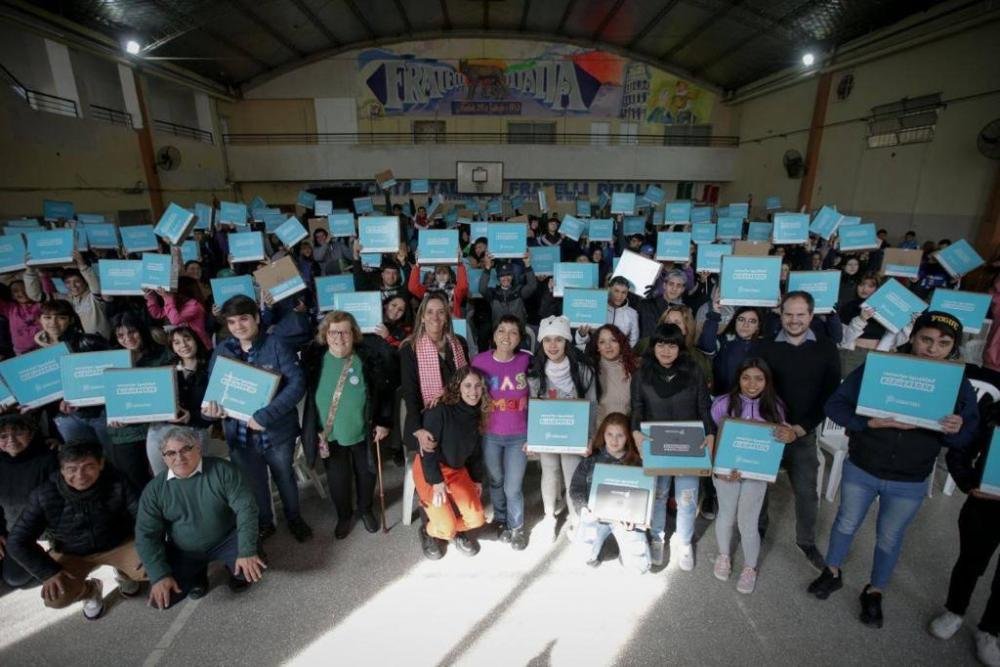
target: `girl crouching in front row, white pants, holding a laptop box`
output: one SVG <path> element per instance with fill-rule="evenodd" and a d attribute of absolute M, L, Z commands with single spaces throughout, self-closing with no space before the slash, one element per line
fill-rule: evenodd
<path fill-rule="evenodd" d="M 590 487 L 594 482 L 594 468 L 598 463 L 607 465 L 641 466 L 642 457 L 629 427 L 629 419 L 620 412 L 612 412 L 597 427 L 590 445 L 591 454 L 577 466 L 570 485 L 570 497 L 580 508 L 580 525 L 574 535 L 586 558 L 587 565 L 601 564 L 601 547 L 609 535 L 615 536 L 618 553 L 625 569 L 643 574 L 649 571 L 649 544 L 646 531 L 636 526 L 616 521 L 598 521 L 587 506 Z"/>

